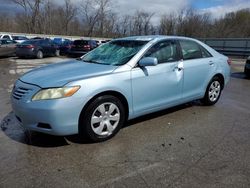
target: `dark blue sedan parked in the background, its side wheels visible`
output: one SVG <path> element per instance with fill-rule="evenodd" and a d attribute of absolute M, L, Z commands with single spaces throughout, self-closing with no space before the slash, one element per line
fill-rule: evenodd
<path fill-rule="evenodd" d="M 18 44 L 16 55 L 22 57 L 35 57 L 41 59 L 45 56 L 59 56 L 60 50 L 50 39 L 33 39 Z"/>

